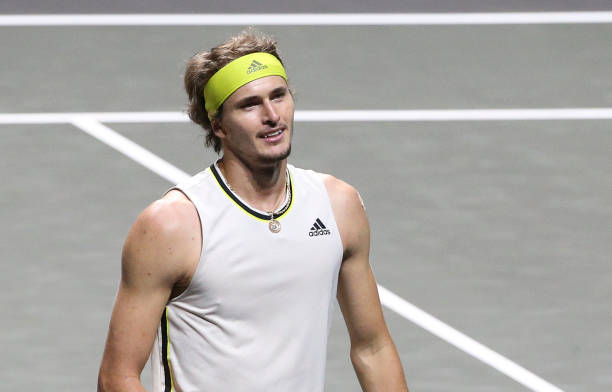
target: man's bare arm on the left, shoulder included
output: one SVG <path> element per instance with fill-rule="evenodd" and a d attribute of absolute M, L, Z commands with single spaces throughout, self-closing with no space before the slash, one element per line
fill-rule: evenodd
<path fill-rule="evenodd" d="M 119 292 L 98 375 L 99 392 L 144 391 L 140 373 L 162 312 L 197 265 L 201 249 L 197 212 L 177 193 L 149 206 L 126 239 Z"/>

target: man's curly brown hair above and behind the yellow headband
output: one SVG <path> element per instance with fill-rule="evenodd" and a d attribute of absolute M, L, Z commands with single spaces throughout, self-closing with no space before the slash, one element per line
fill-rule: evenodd
<path fill-rule="evenodd" d="M 221 151 L 221 139 L 214 134 L 205 109 L 204 86 L 222 67 L 239 57 L 255 52 L 270 53 L 276 56 L 281 64 L 283 62 L 278 55 L 274 38 L 248 29 L 209 51 L 196 53 L 185 67 L 185 91 L 189 97 L 187 114 L 193 122 L 206 130 L 206 146 L 212 146 L 217 153 Z M 214 118 L 220 119 L 222 114 L 223 105 L 214 114 Z"/>

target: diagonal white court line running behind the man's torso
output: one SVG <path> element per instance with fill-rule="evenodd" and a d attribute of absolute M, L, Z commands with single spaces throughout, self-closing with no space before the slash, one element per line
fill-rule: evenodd
<path fill-rule="evenodd" d="M 119 135 L 117 132 L 100 124 L 93 118 L 85 116 L 74 117 L 70 122 L 87 134 L 106 143 L 151 171 L 159 174 L 170 183 L 176 184 L 189 177 L 187 173 L 176 166 Z M 508 358 L 496 353 L 490 348 L 478 343 L 469 336 L 412 305 L 383 286 L 378 285 L 378 292 L 380 301 L 384 306 L 467 354 L 497 369 L 527 388 L 537 392 L 563 392 L 561 389 L 536 376 L 515 362 L 512 362 Z"/>

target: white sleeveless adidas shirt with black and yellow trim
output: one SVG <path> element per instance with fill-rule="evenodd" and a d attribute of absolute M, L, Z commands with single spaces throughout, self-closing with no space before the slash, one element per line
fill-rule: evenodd
<path fill-rule="evenodd" d="M 215 165 L 173 188 L 195 205 L 203 244 L 160 323 L 155 392 L 323 391 L 343 246 L 319 174 L 291 165 L 288 173 L 278 233 Z"/>

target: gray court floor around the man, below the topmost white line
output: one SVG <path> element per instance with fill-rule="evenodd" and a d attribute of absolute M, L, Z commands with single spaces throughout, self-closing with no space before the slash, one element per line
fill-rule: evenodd
<path fill-rule="evenodd" d="M 611 24 L 260 29 L 298 110 L 612 107 Z M 186 59 L 239 30 L 0 27 L 0 113 L 180 111 Z M 215 159 L 190 124 L 109 126 L 188 173 Z M 380 284 L 565 391 L 604 391 L 611 128 L 297 123 L 291 162 L 360 190 Z M 68 124 L 0 136 L 2 390 L 94 390 L 123 240 L 171 184 Z M 385 315 L 411 390 L 526 390 Z M 359 390 L 340 316 L 327 389 Z"/>

